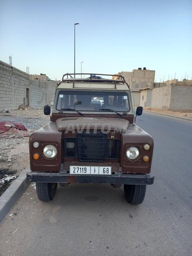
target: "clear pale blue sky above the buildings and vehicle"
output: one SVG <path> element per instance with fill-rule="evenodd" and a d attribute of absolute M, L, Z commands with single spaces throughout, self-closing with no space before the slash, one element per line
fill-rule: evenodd
<path fill-rule="evenodd" d="M 192 79 L 192 0 L 0 0 L 0 60 L 52 80 L 74 73 L 75 23 L 76 73 Z"/>

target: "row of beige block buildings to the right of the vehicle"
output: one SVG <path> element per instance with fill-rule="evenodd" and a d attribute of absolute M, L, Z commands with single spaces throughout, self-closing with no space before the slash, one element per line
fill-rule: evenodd
<path fill-rule="evenodd" d="M 132 91 L 133 105 L 158 110 L 191 111 L 192 80 L 168 80 L 154 83 L 155 70 L 133 69 L 132 72 L 119 72 Z M 114 75 L 114 79 L 116 76 Z"/>

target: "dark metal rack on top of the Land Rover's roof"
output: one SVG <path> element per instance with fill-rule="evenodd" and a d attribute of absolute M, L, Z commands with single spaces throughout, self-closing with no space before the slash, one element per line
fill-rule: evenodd
<path fill-rule="evenodd" d="M 81 77 L 75 77 L 75 76 L 81 76 Z M 82 76 L 87 76 L 86 78 L 82 78 Z M 108 79 L 108 78 L 102 78 L 102 76 L 111 76 L 115 77 L 116 79 Z M 130 89 L 129 84 L 126 83 L 124 76 L 122 75 L 109 75 L 109 74 L 93 74 L 93 73 L 66 73 L 62 76 L 62 81 L 58 84 L 58 86 L 61 83 L 68 83 L 68 82 L 111 82 L 111 83 L 123 83 L 126 84 L 127 87 Z"/>

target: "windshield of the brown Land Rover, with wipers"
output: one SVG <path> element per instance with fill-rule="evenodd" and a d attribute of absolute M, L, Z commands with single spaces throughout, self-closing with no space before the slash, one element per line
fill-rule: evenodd
<path fill-rule="evenodd" d="M 130 111 L 126 92 L 60 91 L 57 110 Z"/>

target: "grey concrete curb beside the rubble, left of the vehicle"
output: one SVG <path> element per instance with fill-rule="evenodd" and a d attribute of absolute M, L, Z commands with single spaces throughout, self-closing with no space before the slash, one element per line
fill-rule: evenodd
<path fill-rule="evenodd" d="M 29 185 L 26 173 L 30 172 L 29 166 L 21 172 L 19 177 L 12 182 L 12 184 L 0 196 L 0 223 L 4 220 L 6 214 L 11 210 L 13 205 L 17 202 L 23 191 Z"/>

